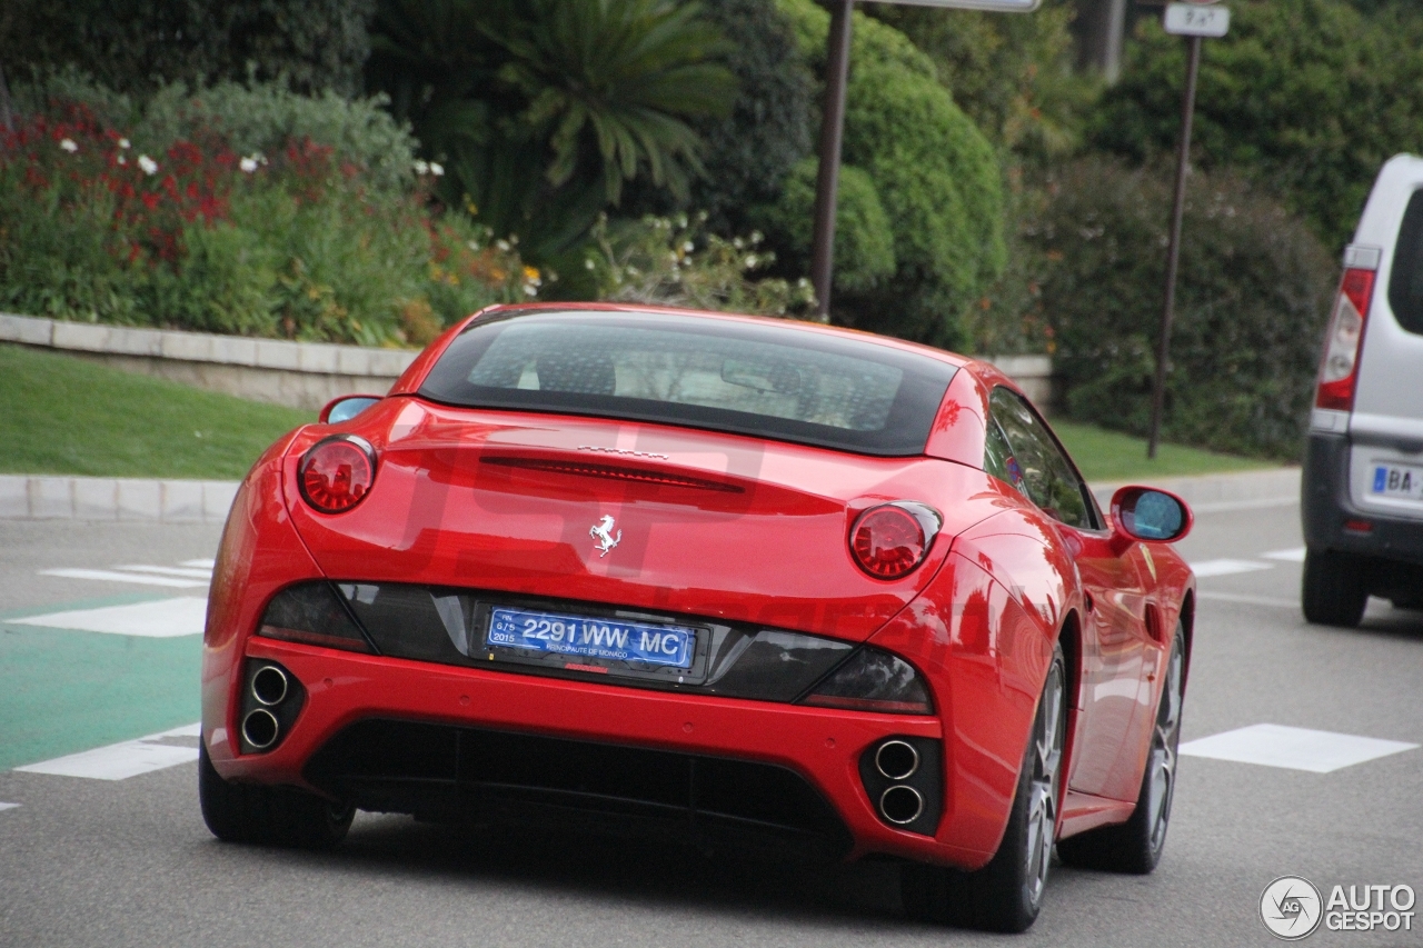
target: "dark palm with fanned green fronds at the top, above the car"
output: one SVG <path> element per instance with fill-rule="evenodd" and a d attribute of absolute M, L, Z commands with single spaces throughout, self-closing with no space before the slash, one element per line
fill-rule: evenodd
<path fill-rule="evenodd" d="M 367 75 L 447 159 L 445 196 L 525 255 L 578 242 L 646 175 L 684 196 L 687 124 L 724 115 L 724 40 L 676 0 L 381 0 Z"/>

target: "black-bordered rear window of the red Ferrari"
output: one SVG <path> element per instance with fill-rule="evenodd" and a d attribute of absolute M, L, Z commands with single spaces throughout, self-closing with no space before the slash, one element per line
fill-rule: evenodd
<path fill-rule="evenodd" d="M 931 356 L 793 323 L 527 313 L 461 333 L 420 394 L 904 457 L 924 453 L 953 372 Z"/>

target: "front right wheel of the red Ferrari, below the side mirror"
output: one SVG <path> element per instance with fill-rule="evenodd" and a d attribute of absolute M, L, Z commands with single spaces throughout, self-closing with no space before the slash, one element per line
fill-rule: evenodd
<path fill-rule="evenodd" d="M 1151 750 L 1131 818 L 1060 840 L 1057 855 L 1067 865 L 1146 875 L 1161 861 L 1175 797 L 1177 746 L 1181 743 L 1181 700 L 1185 683 L 1185 631 L 1175 626 L 1165 683 L 1151 729 Z"/>

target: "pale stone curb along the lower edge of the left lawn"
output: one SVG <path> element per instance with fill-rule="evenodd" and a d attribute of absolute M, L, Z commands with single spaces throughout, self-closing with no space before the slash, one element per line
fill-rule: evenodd
<path fill-rule="evenodd" d="M 0 520 L 222 524 L 236 481 L 0 474 Z"/>

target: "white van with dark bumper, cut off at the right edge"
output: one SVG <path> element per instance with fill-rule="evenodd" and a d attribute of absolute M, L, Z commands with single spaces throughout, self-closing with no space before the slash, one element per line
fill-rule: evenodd
<path fill-rule="evenodd" d="M 1423 158 L 1379 172 L 1329 320 L 1301 497 L 1303 609 L 1423 608 Z"/>

